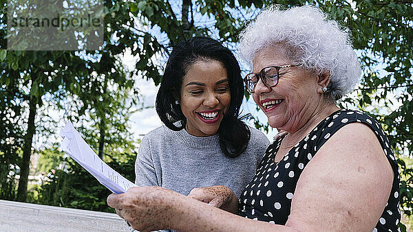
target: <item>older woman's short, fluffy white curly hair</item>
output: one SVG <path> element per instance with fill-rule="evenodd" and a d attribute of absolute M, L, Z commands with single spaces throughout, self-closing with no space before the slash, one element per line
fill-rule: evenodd
<path fill-rule="evenodd" d="M 240 34 L 242 58 L 252 63 L 260 49 L 281 44 L 291 62 L 319 74 L 328 71 L 328 92 L 339 100 L 359 82 L 361 67 L 348 33 L 315 6 L 262 10 Z"/>

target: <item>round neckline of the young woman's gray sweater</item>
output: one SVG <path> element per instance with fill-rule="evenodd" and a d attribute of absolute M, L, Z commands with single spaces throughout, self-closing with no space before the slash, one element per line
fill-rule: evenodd
<path fill-rule="evenodd" d="M 218 135 L 211 135 L 209 137 L 196 137 L 190 135 L 187 130 L 182 129 L 175 131 L 176 137 L 186 146 L 193 148 L 214 148 L 219 147 L 220 139 Z"/>

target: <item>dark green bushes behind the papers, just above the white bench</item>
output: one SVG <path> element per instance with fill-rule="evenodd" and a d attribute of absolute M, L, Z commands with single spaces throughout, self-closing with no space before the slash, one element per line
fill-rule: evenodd
<path fill-rule="evenodd" d="M 136 154 L 124 153 L 115 155 L 113 158 L 106 157 L 106 163 L 110 167 L 122 173 L 127 179 L 134 180 Z M 64 164 L 63 168 L 50 172 L 48 175 L 49 181 L 45 181 L 37 189 L 39 203 L 59 207 L 115 212 L 106 204 L 107 196 L 112 193 L 109 189 L 100 185 L 94 176 L 72 159 L 61 158 L 60 163 Z"/>

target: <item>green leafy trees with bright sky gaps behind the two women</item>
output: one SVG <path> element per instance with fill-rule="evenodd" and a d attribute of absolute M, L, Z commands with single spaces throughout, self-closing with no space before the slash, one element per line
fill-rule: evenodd
<path fill-rule="evenodd" d="M 55 136 L 60 119 L 50 110 L 64 111 L 99 156 L 133 180 L 138 143 L 128 121 L 132 106 L 139 104 L 135 82 L 160 82 L 170 45 L 208 35 L 235 51 L 240 30 L 266 5 L 313 4 L 350 29 L 363 79 L 340 104 L 381 122 L 399 158 L 402 222 L 407 224 L 401 229 L 412 230 L 407 217 L 413 213 L 413 1 L 103 1 L 105 43 L 100 51 L 80 52 L 7 51 L 6 3 L 0 0 L 1 199 L 111 211 L 105 205 L 107 189 L 65 159 L 56 144 L 34 149 L 36 139 Z M 122 65 L 129 51 L 138 57 L 133 71 Z M 35 171 L 48 176 L 40 186 L 28 181 L 33 153 L 41 154 Z"/>

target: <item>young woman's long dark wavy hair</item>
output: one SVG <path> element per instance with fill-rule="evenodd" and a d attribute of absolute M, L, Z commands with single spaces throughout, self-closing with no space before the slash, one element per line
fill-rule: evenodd
<path fill-rule="evenodd" d="M 220 148 L 228 157 L 239 156 L 248 145 L 251 132 L 240 117 L 240 106 L 244 97 L 244 83 L 240 65 L 233 53 L 217 40 L 207 37 L 193 37 L 173 46 L 165 72 L 156 95 L 156 112 L 162 122 L 171 130 L 185 128 L 187 118 L 181 111 L 179 100 L 182 79 L 187 70 L 198 60 L 218 60 L 224 65 L 229 80 L 231 103 L 218 129 Z M 174 124 L 181 121 L 181 125 Z"/>

